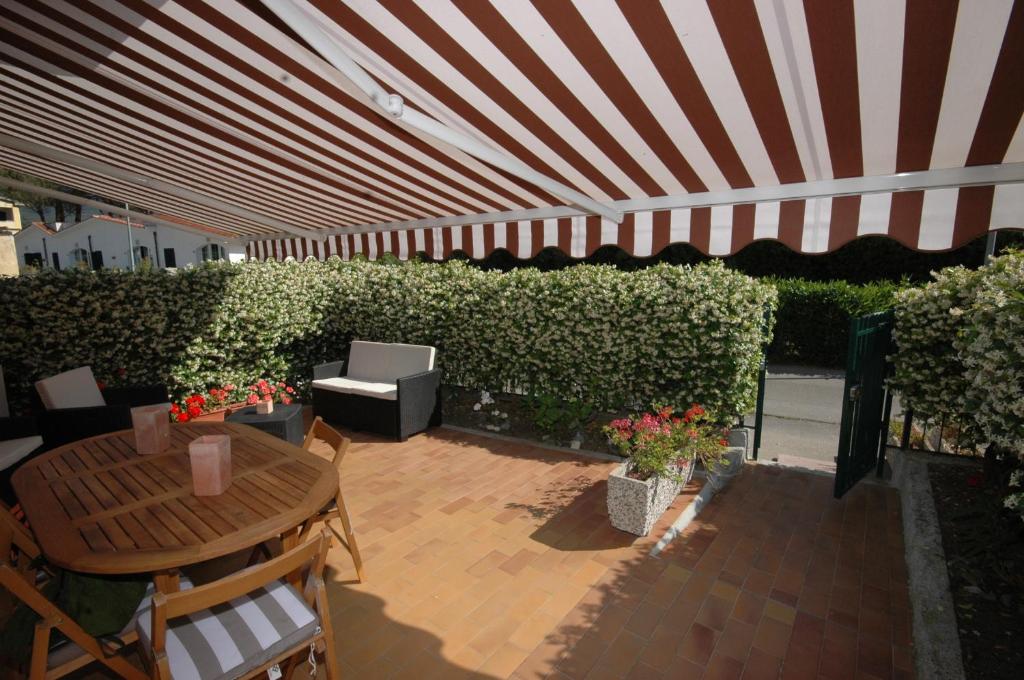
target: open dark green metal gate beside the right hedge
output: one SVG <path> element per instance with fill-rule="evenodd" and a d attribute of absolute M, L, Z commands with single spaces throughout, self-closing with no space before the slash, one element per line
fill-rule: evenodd
<path fill-rule="evenodd" d="M 892 311 L 850 322 L 845 400 L 836 459 L 836 498 L 850 491 L 872 468 L 882 476 L 892 409 L 892 394 L 886 389 L 892 331 Z"/>

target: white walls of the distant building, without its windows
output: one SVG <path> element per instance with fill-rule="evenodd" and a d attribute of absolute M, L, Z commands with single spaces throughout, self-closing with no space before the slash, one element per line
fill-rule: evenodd
<path fill-rule="evenodd" d="M 157 237 L 156 245 L 154 235 Z M 17 246 L 18 266 L 24 271 L 26 253 L 46 253 L 46 266 L 53 265 L 53 253 L 57 253 L 60 267 L 74 266 L 73 252 L 81 248 L 89 250 L 89 238 L 92 238 L 92 250 L 100 251 L 103 256 L 103 266 L 108 268 L 130 268 L 131 257 L 128 252 L 128 226 L 124 222 L 94 217 L 73 226 L 59 229 L 55 235 L 48 235 L 35 226 L 27 226 L 15 238 Z M 43 242 L 46 242 L 45 251 Z M 184 267 L 199 264 L 202 261 L 200 249 L 209 243 L 215 243 L 227 252 L 230 261 L 245 258 L 245 246 L 241 244 L 225 245 L 223 239 L 215 235 L 200 231 L 178 229 L 172 226 L 146 225 L 131 227 L 131 243 L 133 247 L 146 248 L 147 255 L 154 265 L 158 263 L 166 267 L 165 249 L 173 248 L 175 266 Z M 156 252 L 159 247 L 159 253 Z M 136 264 L 138 262 L 136 261 Z"/>

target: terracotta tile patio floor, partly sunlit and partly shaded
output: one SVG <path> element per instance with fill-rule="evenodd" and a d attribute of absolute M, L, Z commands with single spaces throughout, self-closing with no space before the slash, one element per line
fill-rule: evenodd
<path fill-rule="evenodd" d="M 907 678 L 899 499 L 749 466 L 658 557 L 608 523 L 612 463 L 450 430 L 356 435 L 366 559 L 330 564 L 350 677 Z"/>

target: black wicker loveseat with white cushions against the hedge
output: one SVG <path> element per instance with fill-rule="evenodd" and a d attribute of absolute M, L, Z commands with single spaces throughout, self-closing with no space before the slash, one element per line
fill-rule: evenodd
<path fill-rule="evenodd" d="M 427 345 L 352 341 L 345 362 L 313 368 L 313 414 L 404 441 L 441 424 L 441 373 Z"/>

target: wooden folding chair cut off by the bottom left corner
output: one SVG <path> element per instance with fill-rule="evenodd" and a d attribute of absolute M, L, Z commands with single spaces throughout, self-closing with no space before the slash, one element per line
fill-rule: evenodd
<path fill-rule="evenodd" d="M 15 555 L 13 563 L 12 554 Z M 10 508 L 0 504 L 0 586 L 41 618 L 32 640 L 30 680 L 60 678 L 92 662 L 99 662 L 123 678 L 144 680 L 141 671 L 123 656 L 104 650 L 96 638 L 43 595 L 40 585 L 45 580 L 40 579 L 40 570 L 33 565 L 39 555 L 39 546 L 29 529 L 13 517 Z M 63 633 L 71 642 L 50 653 L 53 629 Z M 127 631 L 120 637 L 125 644 L 130 644 L 135 641 L 135 632 Z"/>

